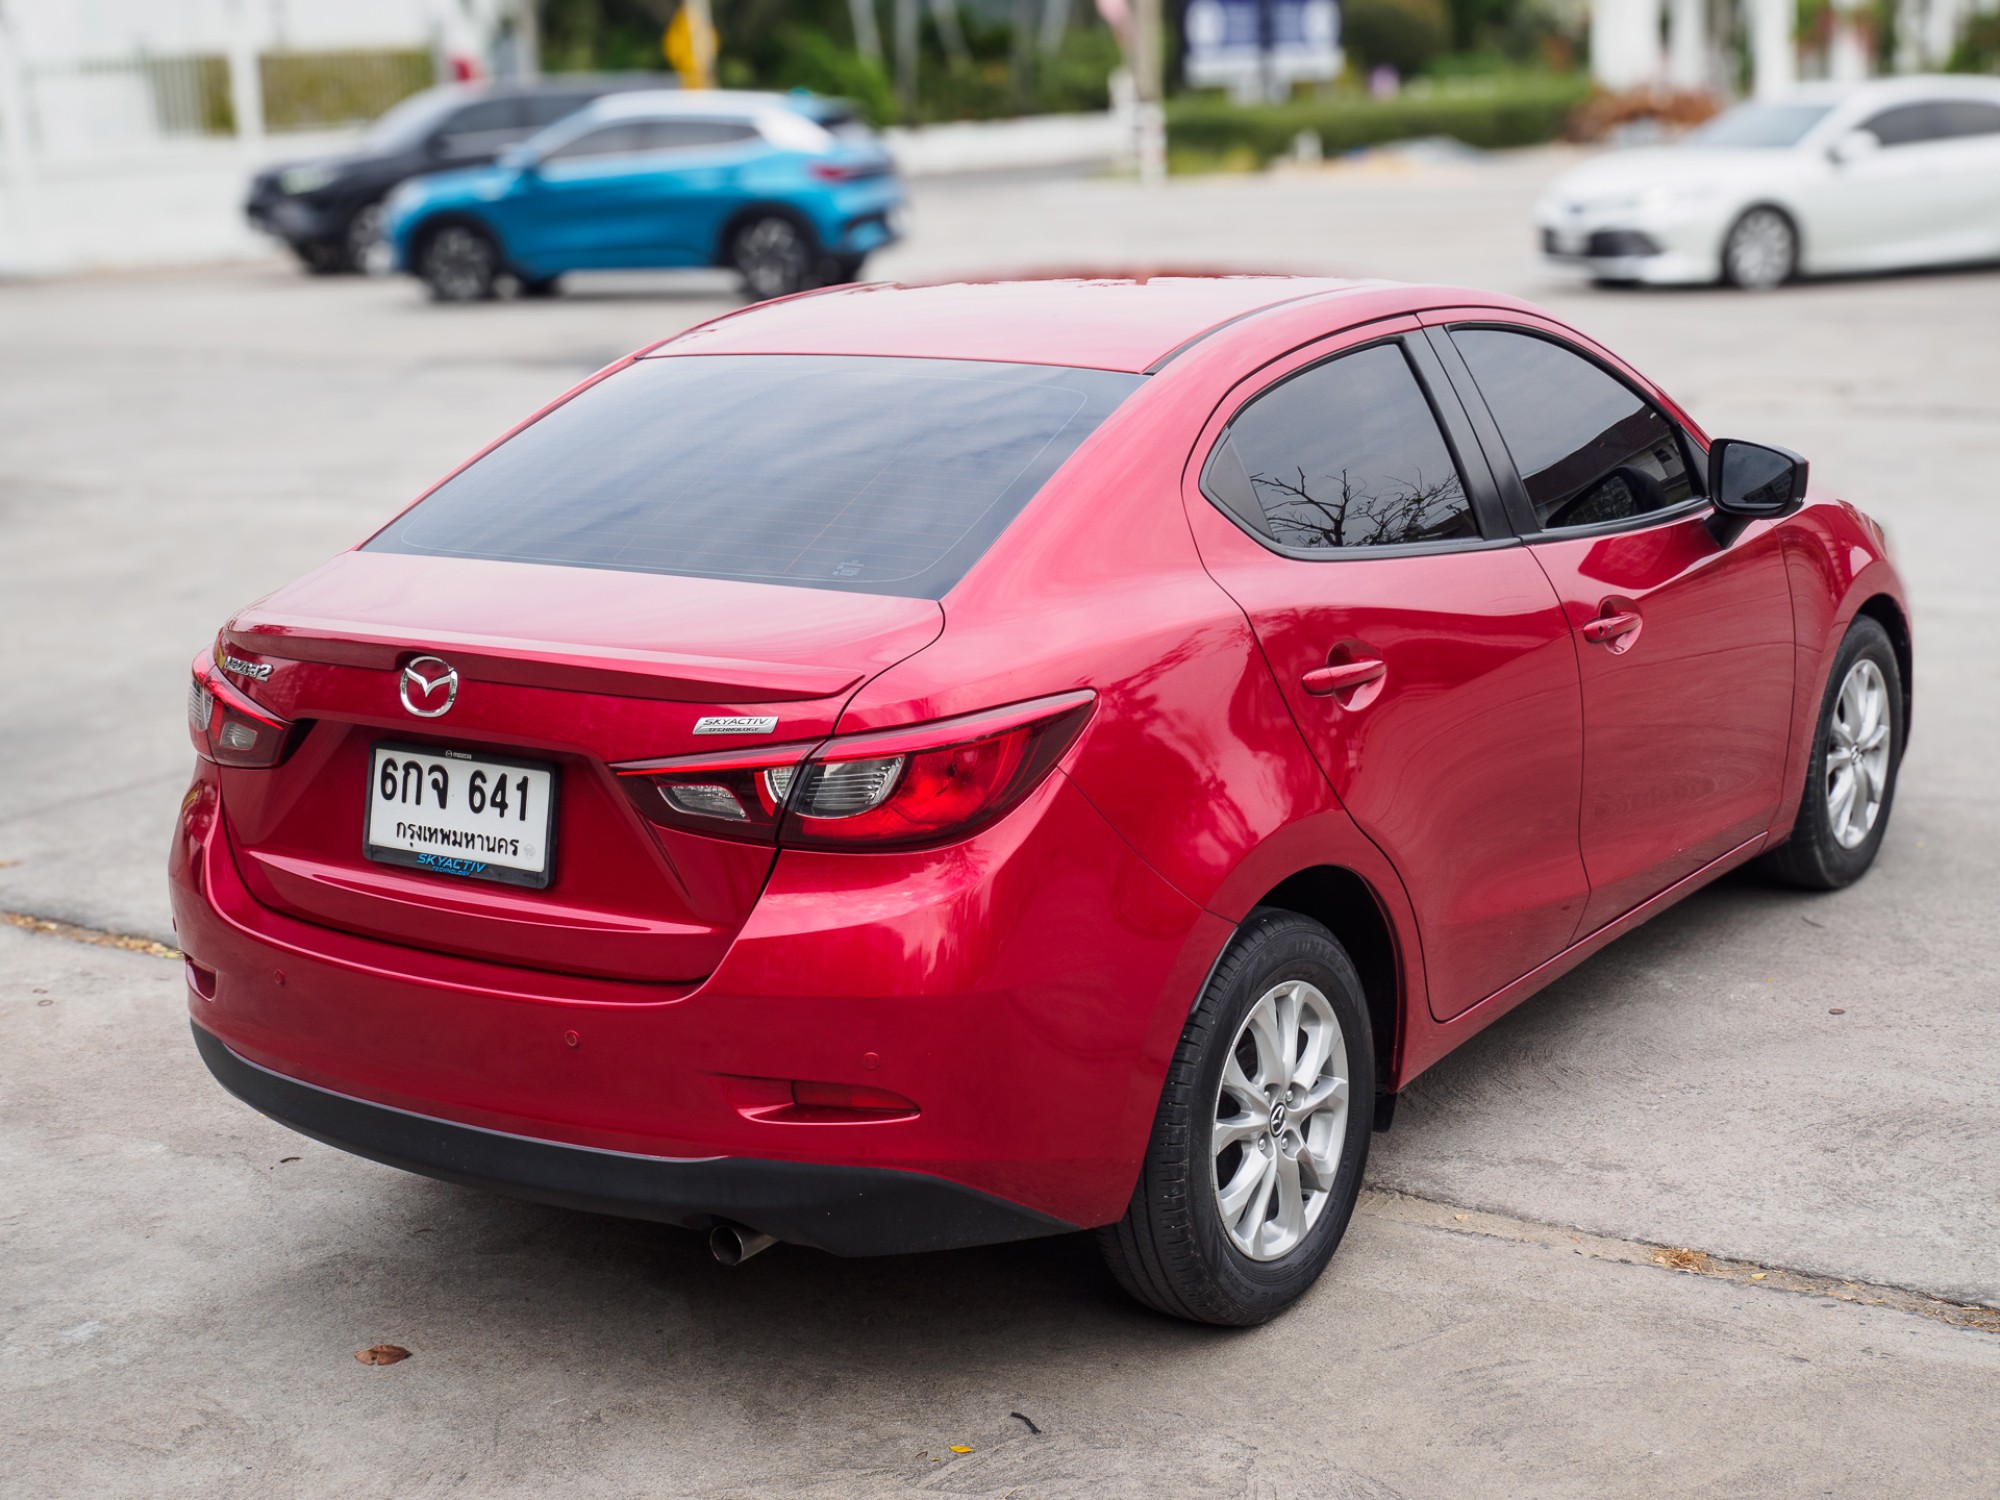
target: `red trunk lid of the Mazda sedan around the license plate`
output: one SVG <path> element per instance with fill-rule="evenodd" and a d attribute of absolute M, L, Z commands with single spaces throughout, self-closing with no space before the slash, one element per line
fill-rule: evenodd
<path fill-rule="evenodd" d="M 608 766 L 832 732 L 864 680 L 930 644 L 932 600 L 710 578 L 346 552 L 230 622 L 232 682 L 310 722 L 270 770 L 224 770 L 244 882 L 268 906 L 392 942 L 558 972 L 708 974 L 772 852 L 646 824 Z M 402 668 L 436 656 L 458 694 L 412 714 Z M 418 706 L 432 706 L 424 700 Z M 696 734 L 702 718 L 776 720 Z M 548 888 L 378 864 L 362 852 L 378 742 L 556 768 Z"/>

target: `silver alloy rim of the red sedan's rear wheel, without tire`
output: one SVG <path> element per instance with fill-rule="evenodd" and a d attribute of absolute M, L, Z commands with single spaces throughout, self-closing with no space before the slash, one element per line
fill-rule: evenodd
<path fill-rule="evenodd" d="M 1348 1138 L 1348 1044 L 1320 990 L 1286 980 L 1250 1006 L 1214 1120 L 1222 1228 L 1252 1260 L 1278 1260 L 1332 1202 Z"/>

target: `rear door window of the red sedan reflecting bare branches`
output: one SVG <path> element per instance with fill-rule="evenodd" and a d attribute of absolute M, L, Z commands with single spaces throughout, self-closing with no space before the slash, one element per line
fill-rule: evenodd
<path fill-rule="evenodd" d="M 1458 464 L 1394 342 L 1316 364 L 1244 406 L 1210 454 L 1202 488 L 1290 548 L 1480 534 Z"/>

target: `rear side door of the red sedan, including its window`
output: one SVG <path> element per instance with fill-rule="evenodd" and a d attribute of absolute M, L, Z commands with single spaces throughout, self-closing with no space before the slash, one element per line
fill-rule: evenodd
<path fill-rule="evenodd" d="M 1588 896 L 1576 650 L 1416 320 L 1238 386 L 1186 500 L 1322 772 L 1402 876 L 1432 1012 L 1558 954 Z"/>

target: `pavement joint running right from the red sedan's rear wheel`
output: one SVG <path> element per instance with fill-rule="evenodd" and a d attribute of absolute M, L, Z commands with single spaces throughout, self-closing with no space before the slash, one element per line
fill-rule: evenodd
<path fill-rule="evenodd" d="M 1918 1318 L 1950 1324 L 1952 1328 L 1972 1328 L 1982 1334 L 2000 1334 L 2000 1308 L 1982 1302 L 1954 1302 L 1950 1298 L 1916 1292 L 1906 1286 L 1882 1286 L 1878 1282 L 1858 1282 L 1842 1276 L 1822 1276 L 1810 1270 L 1788 1266 L 1762 1266 L 1754 1260 L 1730 1260 L 1712 1256 L 1706 1250 L 1686 1246 L 1650 1244 L 1646 1240 L 1618 1240 L 1604 1234 L 1562 1228 L 1560 1224 L 1538 1224 L 1506 1214 L 1486 1214 L 1476 1208 L 1422 1198 L 1412 1192 L 1392 1188 L 1364 1188 L 1360 1212 L 1372 1218 L 1386 1218 L 1398 1224 L 1444 1230 L 1448 1234 L 1472 1234 L 1488 1240 L 1510 1240 L 1514 1244 L 1534 1244 L 1548 1250 L 1570 1250 L 1592 1260 L 1612 1260 L 1626 1266 L 1654 1266 L 1682 1276 L 1708 1276 L 1712 1280 L 1736 1282 L 1764 1292 L 1802 1292 L 1824 1296 L 1834 1302 L 1850 1302 L 1862 1308 L 1890 1308 L 1892 1312 L 1912 1312 Z"/>

